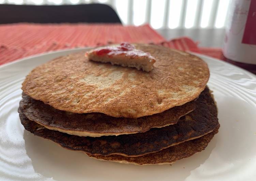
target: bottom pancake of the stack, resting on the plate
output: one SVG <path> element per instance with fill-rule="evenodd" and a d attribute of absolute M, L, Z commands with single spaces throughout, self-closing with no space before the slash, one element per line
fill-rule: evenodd
<path fill-rule="evenodd" d="M 193 154 L 204 150 L 208 143 L 211 141 L 213 136 L 218 132 L 219 125 L 211 133 L 208 133 L 205 136 L 202 136 L 197 139 L 193 139 L 184 143 L 181 143 L 176 146 L 171 146 L 169 148 L 163 149 L 159 152 L 149 153 L 140 157 L 124 157 L 122 155 L 87 155 L 91 158 L 126 163 L 126 164 L 135 164 L 135 165 L 163 165 L 163 164 L 172 164 L 177 160 L 183 158 L 191 157 Z"/>

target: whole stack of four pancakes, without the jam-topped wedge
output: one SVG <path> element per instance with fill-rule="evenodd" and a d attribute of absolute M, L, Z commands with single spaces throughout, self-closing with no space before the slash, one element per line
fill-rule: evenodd
<path fill-rule="evenodd" d="M 162 46 L 144 72 L 88 60 L 85 52 L 33 69 L 22 84 L 21 124 L 89 157 L 139 165 L 174 163 L 204 150 L 218 132 L 207 64 Z"/>

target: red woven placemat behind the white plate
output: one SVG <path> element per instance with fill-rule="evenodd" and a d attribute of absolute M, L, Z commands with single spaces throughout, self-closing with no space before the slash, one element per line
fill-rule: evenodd
<path fill-rule="evenodd" d="M 153 43 L 223 59 L 220 49 L 198 48 L 190 38 L 166 41 L 148 24 L 32 24 L 0 25 L 0 65 L 33 54 L 75 47 L 94 47 L 110 43 Z"/>

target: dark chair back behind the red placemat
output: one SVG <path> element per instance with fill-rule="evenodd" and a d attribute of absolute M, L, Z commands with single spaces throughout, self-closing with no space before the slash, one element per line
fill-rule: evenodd
<path fill-rule="evenodd" d="M 0 4 L 0 24 L 18 23 L 18 22 L 121 23 L 117 13 L 110 6 L 106 4 L 79 4 L 79 5 Z"/>

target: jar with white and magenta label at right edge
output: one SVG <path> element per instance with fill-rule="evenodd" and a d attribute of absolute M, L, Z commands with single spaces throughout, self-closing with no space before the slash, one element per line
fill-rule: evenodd
<path fill-rule="evenodd" d="M 246 69 L 256 70 L 256 0 L 231 0 L 223 54 Z M 248 64 L 248 65 L 243 65 Z"/>

